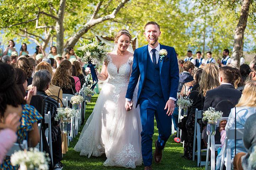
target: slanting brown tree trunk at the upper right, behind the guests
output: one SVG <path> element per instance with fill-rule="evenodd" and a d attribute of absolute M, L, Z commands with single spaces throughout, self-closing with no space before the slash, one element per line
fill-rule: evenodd
<path fill-rule="evenodd" d="M 250 2 L 251 2 L 251 0 L 243 1 L 239 22 L 235 28 L 232 63 L 234 63 L 238 67 L 240 66 L 240 58 L 242 57 L 244 31 L 245 31 L 246 24 L 247 24 Z"/>

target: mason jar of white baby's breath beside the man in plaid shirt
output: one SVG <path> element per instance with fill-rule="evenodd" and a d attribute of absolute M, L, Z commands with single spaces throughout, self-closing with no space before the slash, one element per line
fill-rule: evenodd
<path fill-rule="evenodd" d="M 76 110 L 71 108 L 57 108 L 57 114 L 55 116 L 55 121 L 61 123 L 60 129 L 64 134 L 68 134 L 71 129 L 71 118 L 76 116 Z"/>

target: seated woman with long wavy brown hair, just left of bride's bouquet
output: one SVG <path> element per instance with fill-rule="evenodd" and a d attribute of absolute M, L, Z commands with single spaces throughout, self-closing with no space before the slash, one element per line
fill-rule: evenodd
<path fill-rule="evenodd" d="M 71 77 L 71 63 L 63 60 L 52 78 L 52 84 L 59 86 L 63 94 L 75 94 L 75 80 Z"/>

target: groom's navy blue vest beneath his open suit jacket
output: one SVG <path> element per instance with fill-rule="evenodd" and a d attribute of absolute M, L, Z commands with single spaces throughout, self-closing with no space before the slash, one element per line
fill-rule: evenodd
<path fill-rule="evenodd" d="M 154 66 L 149 55 L 147 62 L 146 77 L 142 93 L 145 93 L 150 97 L 154 96 L 155 94 L 157 94 L 159 97 L 163 96 L 160 82 L 160 61 L 158 60 L 158 63 L 156 64 L 156 66 Z"/>

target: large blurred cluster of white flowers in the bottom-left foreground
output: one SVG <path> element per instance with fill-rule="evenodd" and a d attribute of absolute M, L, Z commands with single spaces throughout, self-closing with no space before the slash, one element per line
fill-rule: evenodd
<path fill-rule="evenodd" d="M 11 164 L 19 165 L 20 170 L 48 170 L 50 158 L 48 153 L 40 152 L 37 148 L 29 151 L 17 151 L 11 155 Z"/>

